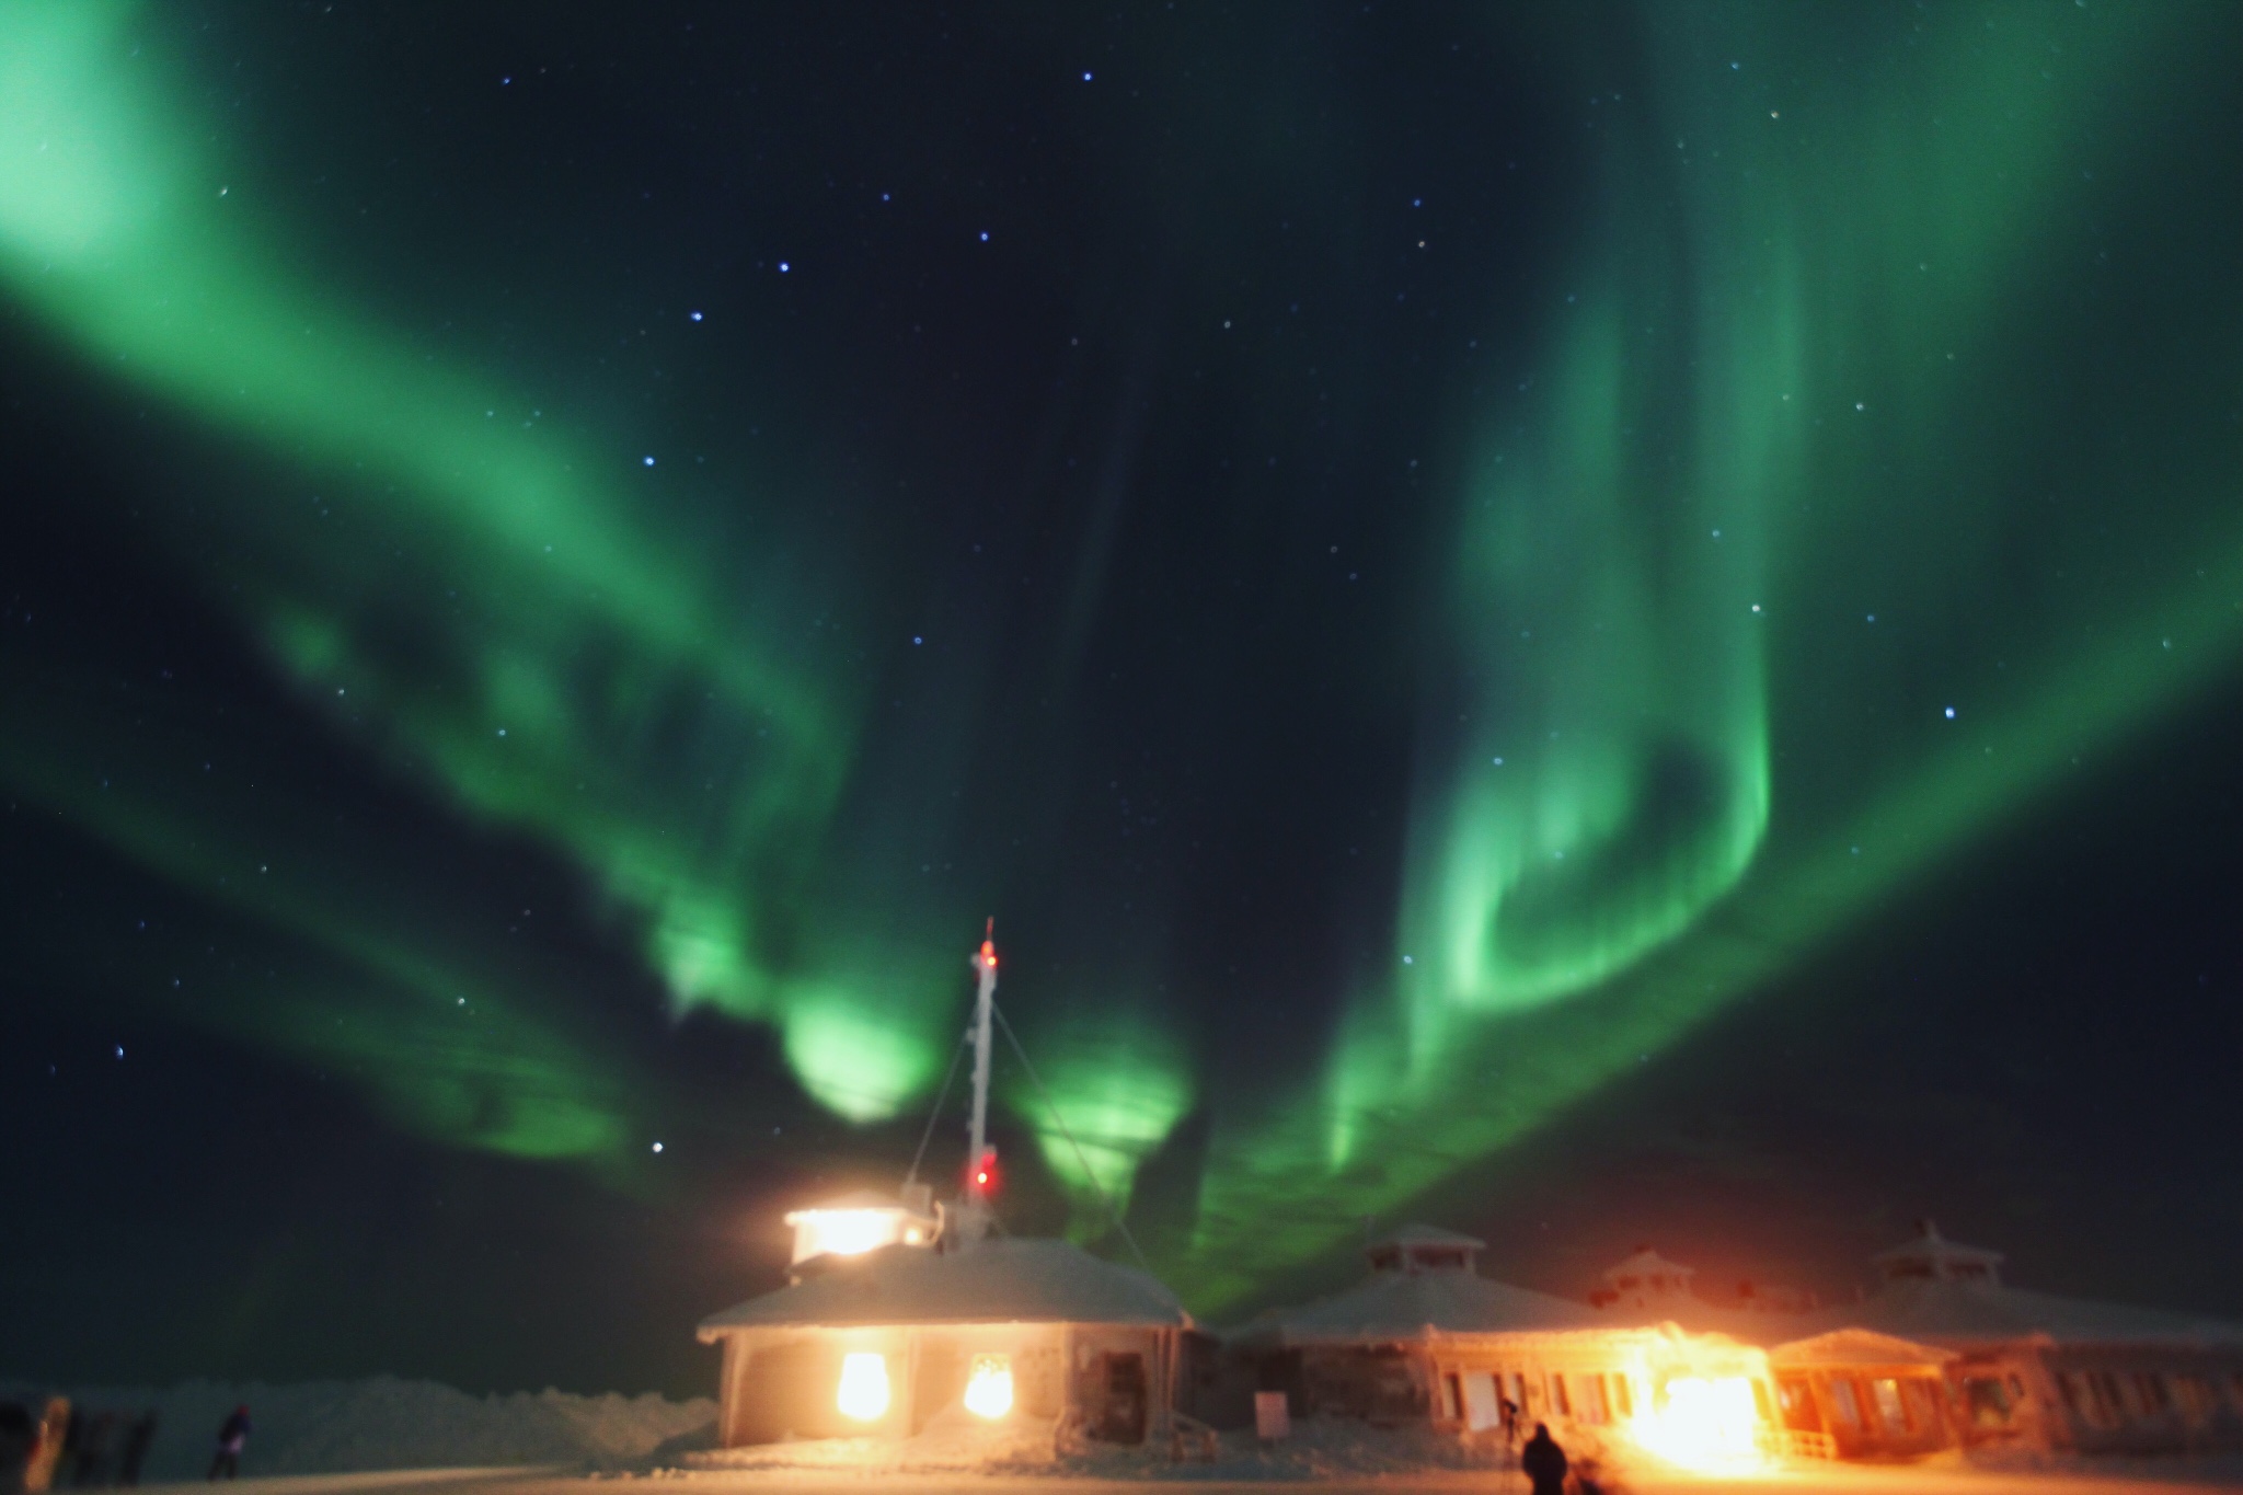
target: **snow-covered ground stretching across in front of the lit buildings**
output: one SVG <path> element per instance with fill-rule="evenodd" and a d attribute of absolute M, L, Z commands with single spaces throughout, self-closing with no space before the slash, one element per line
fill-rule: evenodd
<path fill-rule="evenodd" d="M 718 1452 L 707 1399 L 570 1396 L 536 1392 L 469 1396 L 433 1381 L 314 1381 L 222 1385 L 191 1381 L 153 1390 L 70 1392 L 90 1410 L 161 1423 L 146 1484 L 195 1482 L 218 1423 L 249 1403 L 256 1432 L 240 1495 L 583 1495 L 659 1479 L 677 1495 L 1117 1495 L 1146 1482 L 1196 1491 L 1272 1486 L 1317 1495 L 1480 1491 L 1523 1495 L 1525 1482 L 1494 1446 L 1431 1430 L 1373 1430 L 1341 1421 L 1294 1423 L 1283 1443 L 1222 1434 L 1213 1461 L 1173 1461 L 1164 1448 L 1095 1450 L 1050 1459 L 1050 1437 L 989 1446 L 956 1430 L 906 1441 L 825 1439 Z M 931 1430 L 938 1432 L 938 1430 Z M 1579 1452 L 1590 1452 L 1577 1448 Z M 1705 1477 L 1619 1457 L 1608 1473 L 1622 1495 L 2122 1495 L 2243 1491 L 2243 1457 L 2225 1459 L 1965 1459 L 1904 1466 L 1792 1464 L 1738 1477 Z"/>

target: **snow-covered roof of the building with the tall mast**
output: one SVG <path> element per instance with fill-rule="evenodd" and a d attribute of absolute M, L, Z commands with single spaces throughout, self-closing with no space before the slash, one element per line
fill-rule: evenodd
<path fill-rule="evenodd" d="M 938 1253 L 881 1246 L 830 1257 L 816 1275 L 711 1313 L 700 1338 L 736 1329 L 855 1325 L 1095 1322 L 1191 1327 L 1191 1313 L 1142 1271 L 1054 1239 L 985 1239 Z"/>

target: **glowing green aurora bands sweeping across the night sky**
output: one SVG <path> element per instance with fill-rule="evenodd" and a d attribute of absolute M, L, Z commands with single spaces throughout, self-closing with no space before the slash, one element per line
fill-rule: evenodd
<path fill-rule="evenodd" d="M 1148 995 L 1157 950 L 1059 1002 L 1005 988 L 1110 1192 L 1204 1125 L 1153 1242 L 1209 1309 L 1624 1083 L 2243 650 L 2243 224 L 2234 150 L 2182 123 L 2230 85 L 2232 18 L 1646 7 L 1626 49 L 1507 34 L 1597 101 L 1572 110 L 1593 179 L 1532 377 L 1447 401 L 1391 962 L 1314 1065 L 1247 1078 Z M 287 204 L 251 208 L 224 143 L 173 126 L 182 78 L 141 40 L 123 7 L 0 9 L 0 282 L 242 466 L 206 516 L 242 540 L 211 605 L 336 740 L 581 870 L 675 1011 L 769 1024 L 848 1125 L 915 1114 L 987 910 L 924 897 L 895 847 L 967 749 L 897 771 L 846 666 L 870 623 L 785 632 L 848 592 L 807 480 L 763 477 L 749 540 L 628 426 L 561 435 L 559 401 L 352 305 L 289 251 Z M 67 668 L 11 661 L 0 690 L 16 793 L 343 973 L 179 1020 L 348 1053 L 384 1114 L 462 1148 L 619 1172 L 644 1145 L 659 1076 L 386 881 L 408 845 L 307 838 L 316 787 L 283 764 L 202 802 L 101 782 Z M 1097 1235 L 1072 1145 L 1007 1101 Z"/>

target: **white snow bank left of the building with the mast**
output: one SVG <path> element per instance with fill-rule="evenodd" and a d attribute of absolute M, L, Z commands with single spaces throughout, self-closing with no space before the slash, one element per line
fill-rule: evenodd
<path fill-rule="evenodd" d="M 74 1405 L 121 1419 L 157 1412 L 155 1446 L 141 1482 L 200 1479 L 211 1464 L 218 1423 L 249 1405 L 242 1475 L 330 1475 L 361 1468 L 467 1468 L 559 1464 L 612 1470 L 675 1461 L 716 1443 L 716 1403 L 707 1396 L 572 1396 L 514 1392 L 469 1396 L 435 1381 L 186 1381 L 170 1390 L 65 1390 Z M 110 1434 L 110 1452 L 123 1439 Z"/>

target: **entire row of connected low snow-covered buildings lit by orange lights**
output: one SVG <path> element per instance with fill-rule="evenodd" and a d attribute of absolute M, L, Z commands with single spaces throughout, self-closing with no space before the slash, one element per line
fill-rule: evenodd
<path fill-rule="evenodd" d="M 931 1428 L 1146 1443 L 1196 1417 L 1245 1426 L 1256 1394 L 1283 1394 L 1303 1419 L 1512 1439 L 1545 1421 L 1698 1466 L 2243 1448 L 2243 1327 L 2012 1289 L 1999 1253 L 1929 1224 L 1875 1257 L 1873 1296 L 1756 1311 L 1700 1300 L 1649 1248 L 1572 1302 L 1483 1278 L 1469 1235 L 1406 1226 L 1355 1287 L 1222 1343 L 1151 1275 L 1065 1242 L 938 1242 L 924 1197 L 790 1224 L 792 1282 L 700 1325 L 724 1347 L 724 1446 Z"/>

